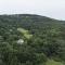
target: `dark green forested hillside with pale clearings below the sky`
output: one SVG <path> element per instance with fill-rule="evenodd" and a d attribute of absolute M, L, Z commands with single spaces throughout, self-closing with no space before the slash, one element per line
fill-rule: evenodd
<path fill-rule="evenodd" d="M 0 65 L 65 65 L 65 21 L 0 15 Z"/>

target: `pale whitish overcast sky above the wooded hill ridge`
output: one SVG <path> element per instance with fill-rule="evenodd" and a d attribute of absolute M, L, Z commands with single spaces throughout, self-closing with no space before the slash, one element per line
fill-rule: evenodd
<path fill-rule="evenodd" d="M 38 14 L 65 21 L 65 0 L 0 0 L 0 14 Z"/>

